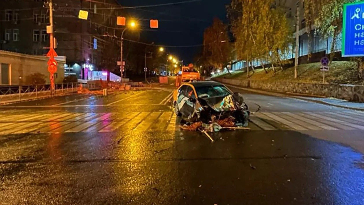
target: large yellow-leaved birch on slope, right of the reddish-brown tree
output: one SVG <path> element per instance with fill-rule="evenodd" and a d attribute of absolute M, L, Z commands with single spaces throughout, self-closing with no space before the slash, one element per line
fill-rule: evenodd
<path fill-rule="evenodd" d="M 236 39 L 237 58 L 247 63 L 258 60 L 265 64 L 279 62 L 288 52 L 291 41 L 290 27 L 281 7 L 274 0 L 233 0 L 227 8 Z M 253 70 L 254 72 L 254 70 Z"/>

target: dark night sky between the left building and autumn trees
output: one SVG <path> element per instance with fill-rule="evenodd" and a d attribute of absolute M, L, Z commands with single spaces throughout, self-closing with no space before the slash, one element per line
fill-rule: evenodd
<path fill-rule="evenodd" d="M 183 0 L 119 0 L 123 6 L 141 6 L 180 2 Z M 159 29 L 142 31 L 141 41 L 171 46 L 202 44 L 203 30 L 210 26 L 214 17 L 226 22 L 226 5 L 230 0 L 201 0 L 177 5 L 125 9 L 128 16 L 140 20 L 141 28 L 149 28 L 148 19 L 158 19 Z M 176 55 L 179 60 L 192 62 L 201 47 L 168 48 L 166 52 Z"/>

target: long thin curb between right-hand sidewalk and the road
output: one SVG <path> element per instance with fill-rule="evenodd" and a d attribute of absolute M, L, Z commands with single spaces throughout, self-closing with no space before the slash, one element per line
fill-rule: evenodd
<path fill-rule="evenodd" d="M 230 87 L 233 87 L 233 88 L 242 89 L 242 90 L 255 92 L 255 93 L 268 94 L 268 95 L 271 95 L 271 96 L 278 96 L 278 97 L 290 97 L 290 98 L 296 98 L 296 99 L 304 100 L 304 101 L 308 101 L 308 102 L 316 102 L 316 103 L 323 104 L 323 105 L 330 105 L 330 106 L 334 106 L 334 107 L 338 107 L 338 108 L 346 108 L 346 109 L 352 109 L 352 110 L 356 110 L 356 111 L 364 111 L 364 108 L 347 107 L 347 106 L 332 104 L 332 103 L 324 102 L 324 101 L 320 101 L 320 100 L 311 100 L 311 99 L 303 98 L 303 97 L 300 97 L 300 96 L 292 95 L 294 93 L 285 93 L 285 94 L 283 94 L 283 93 L 277 93 L 277 92 L 272 92 L 272 91 L 256 90 L 256 89 L 251 89 L 251 88 L 243 88 L 243 87 L 238 87 L 238 86 L 234 86 L 234 85 L 230 85 L 230 84 L 226 84 L 226 85 L 230 86 Z M 323 97 L 323 96 L 311 96 L 311 97 Z"/>

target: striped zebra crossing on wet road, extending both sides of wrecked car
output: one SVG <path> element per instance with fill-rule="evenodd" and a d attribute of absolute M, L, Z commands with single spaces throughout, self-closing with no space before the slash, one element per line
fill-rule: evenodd
<path fill-rule="evenodd" d="M 257 112 L 252 130 L 364 130 L 361 113 L 352 112 Z M 363 115 L 364 117 L 364 115 Z M 0 114 L 0 134 L 53 132 L 113 132 L 179 130 L 179 119 L 171 111 L 120 113 L 33 113 Z M 10 121 L 11 120 L 11 121 Z M 256 126 L 255 126 L 256 125 Z"/>

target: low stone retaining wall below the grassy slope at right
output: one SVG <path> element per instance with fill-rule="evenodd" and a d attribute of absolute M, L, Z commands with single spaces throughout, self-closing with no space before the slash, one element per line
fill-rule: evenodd
<path fill-rule="evenodd" d="M 337 85 L 337 84 L 310 84 L 298 82 L 269 82 L 250 81 L 226 78 L 215 78 L 224 84 L 241 86 L 261 90 L 309 94 L 315 96 L 334 97 L 353 102 L 364 102 L 364 86 L 362 85 Z"/>

